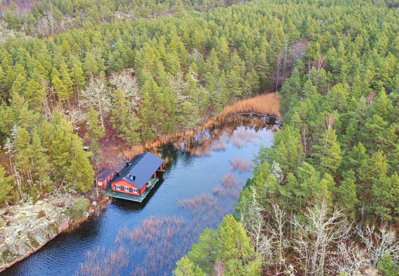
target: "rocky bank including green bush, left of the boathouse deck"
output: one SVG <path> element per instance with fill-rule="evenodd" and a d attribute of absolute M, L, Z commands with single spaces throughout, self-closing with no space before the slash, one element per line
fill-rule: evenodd
<path fill-rule="evenodd" d="M 98 202 L 97 202 L 97 201 Z M 49 196 L 0 210 L 0 271 L 30 256 L 63 231 L 99 215 L 108 203 L 95 193 Z"/>

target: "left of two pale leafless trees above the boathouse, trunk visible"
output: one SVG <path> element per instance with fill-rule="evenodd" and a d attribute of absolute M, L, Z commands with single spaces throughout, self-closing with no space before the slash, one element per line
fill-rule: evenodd
<path fill-rule="evenodd" d="M 84 107 L 92 106 L 99 112 L 101 126 L 104 127 L 104 117 L 107 116 L 112 107 L 111 92 L 102 79 L 91 79 L 82 91 L 83 99 L 80 105 Z"/>

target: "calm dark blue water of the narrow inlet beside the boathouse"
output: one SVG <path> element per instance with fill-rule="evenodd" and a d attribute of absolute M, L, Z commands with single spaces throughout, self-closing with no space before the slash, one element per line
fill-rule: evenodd
<path fill-rule="evenodd" d="M 74 275 L 82 263 L 90 266 L 101 261 L 98 264 L 103 266 L 106 254 L 119 248 L 124 248 L 126 262 L 114 275 L 170 275 L 175 262 L 198 242 L 199 233 L 205 227 L 215 229 L 222 217 L 232 213 L 251 172 L 232 171 L 230 160 L 252 160 L 260 143 L 271 145 L 272 128 L 267 118 L 236 116 L 186 141 L 186 149 L 167 144 L 162 155 L 168 156 L 170 163 L 143 203 L 113 201 L 99 218 L 55 237 L 0 275 Z M 233 177 L 239 184 L 223 185 L 226 175 L 229 183 Z M 143 232 L 143 225 L 150 227 L 156 219 L 154 233 L 132 238 L 132 233 Z M 87 257 L 88 251 L 98 248 L 96 255 Z M 105 271 L 103 267 L 100 270 Z"/>

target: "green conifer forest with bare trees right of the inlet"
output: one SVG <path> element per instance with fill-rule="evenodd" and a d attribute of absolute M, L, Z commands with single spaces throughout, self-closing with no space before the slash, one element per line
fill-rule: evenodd
<path fill-rule="evenodd" d="M 267 38 L 280 45 L 282 127 L 233 216 L 205 229 L 174 274 L 399 275 L 398 11 L 324 0 L 227 10 L 284 34 Z"/>

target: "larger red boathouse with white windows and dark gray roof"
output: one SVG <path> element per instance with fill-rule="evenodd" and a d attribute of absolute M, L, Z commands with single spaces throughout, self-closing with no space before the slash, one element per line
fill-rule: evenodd
<path fill-rule="evenodd" d="M 115 177 L 111 180 L 110 188 L 113 193 L 111 196 L 120 197 L 115 193 L 142 196 L 146 191 L 146 186 L 150 187 L 156 183 L 156 181 L 151 181 L 152 177 L 158 181 L 156 171 L 162 171 L 163 162 L 164 160 L 151 152 L 134 156 L 130 162 L 126 162 L 126 166 L 122 170 L 116 172 Z M 134 198 L 126 199 L 134 200 Z"/>

